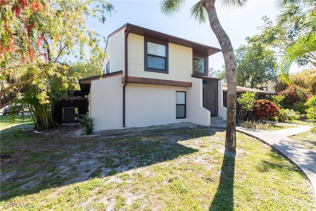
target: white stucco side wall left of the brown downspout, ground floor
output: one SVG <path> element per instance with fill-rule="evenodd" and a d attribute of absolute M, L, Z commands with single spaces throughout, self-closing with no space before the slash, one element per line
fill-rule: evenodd
<path fill-rule="evenodd" d="M 94 131 L 123 128 L 122 75 L 91 82 L 90 116 L 94 119 Z"/>

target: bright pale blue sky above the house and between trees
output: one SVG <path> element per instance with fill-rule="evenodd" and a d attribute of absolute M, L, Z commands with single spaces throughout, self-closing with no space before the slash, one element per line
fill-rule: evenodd
<path fill-rule="evenodd" d="M 218 0 L 219 1 L 219 0 Z M 126 23 L 158 31 L 193 42 L 220 48 L 209 23 L 199 24 L 190 15 L 190 8 L 197 2 L 187 0 L 184 8 L 174 17 L 160 12 L 158 0 L 110 0 L 116 10 L 107 16 L 104 24 L 91 19 L 88 28 L 108 37 L 112 32 Z M 241 8 L 227 8 L 216 3 L 219 21 L 231 39 L 234 49 L 247 44 L 246 37 L 260 34 L 258 27 L 263 26 L 262 17 L 267 15 L 274 23 L 279 13 L 275 0 L 248 0 Z M 221 52 L 209 57 L 209 67 L 221 70 L 224 59 Z M 293 71 L 293 68 L 292 68 Z M 295 70 L 294 70 L 295 71 Z"/>

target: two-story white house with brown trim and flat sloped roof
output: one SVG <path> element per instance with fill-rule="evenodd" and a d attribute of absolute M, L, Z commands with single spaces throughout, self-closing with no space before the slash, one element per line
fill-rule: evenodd
<path fill-rule="evenodd" d="M 226 120 L 222 82 L 208 77 L 208 57 L 219 51 L 125 24 L 108 37 L 104 75 L 79 80 L 95 131 Z"/>

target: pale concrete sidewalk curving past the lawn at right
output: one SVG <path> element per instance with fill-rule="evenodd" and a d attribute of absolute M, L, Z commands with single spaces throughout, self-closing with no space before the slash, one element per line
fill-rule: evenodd
<path fill-rule="evenodd" d="M 218 127 L 226 127 L 226 125 L 218 125 Z M 299 126 L 265 131 L 236 127 L 237 131 L 261 140 L 298 166 L 310 180 L 316 199 L 316 152 L 288 138 L 291 135 L 308 132 L 310 129 L 310 126 Z"/>

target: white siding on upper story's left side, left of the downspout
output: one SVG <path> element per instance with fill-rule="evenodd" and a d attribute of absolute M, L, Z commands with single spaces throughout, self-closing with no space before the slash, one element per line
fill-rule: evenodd
<path fill-rule="evenodd" d="M 110 73 L 124 71 L 124 36 L 124 30 L 121 30 L 108 38 L 105 53 L 109 57 L 105 58 L 102 66 L 105 73 L 108 61 L 111 61 Z"/>

